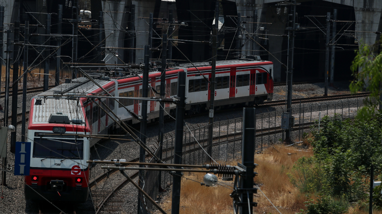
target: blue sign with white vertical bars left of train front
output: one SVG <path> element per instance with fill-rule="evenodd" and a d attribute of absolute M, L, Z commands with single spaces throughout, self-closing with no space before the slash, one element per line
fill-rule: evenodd
<path fill-rule="evenodd" d="M 31 142 L 16 142 L 15 176 L 29 176 Z"/>

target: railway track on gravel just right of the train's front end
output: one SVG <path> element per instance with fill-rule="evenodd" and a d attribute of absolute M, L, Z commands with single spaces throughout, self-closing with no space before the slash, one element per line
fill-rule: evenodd
<path fill-rule="evenodd" d="M 146 161 L 149 161 L 150 157 L 146 156 Z M 129 162 L 138 162 L 138 158 L 130 160 Z M 138 167 L 138 165 L 124 165 L 121 166 L 131 166 Z M 134 180 L 138 181 L 138 170 L 128 170 L 126 174 Z M 95 205 L 95 214 L 101 212 L 115 212 L 121 211 L 121 206 L 125 200 L 123 197 L 115 197 L 116 195 L 127 195 L 127 193 L 118 192 L 124 188 L 129 188 L 133 184 L 129 183 L 129 180 L 123 176 L 120 171 L 112 169 L 107 171 L 100 176 L 96 177 L 94 180 L 89 182 L 89 188 L 91 189 L 92 200 Z M 135 187 L 133 187 L 135 188 Z"/>

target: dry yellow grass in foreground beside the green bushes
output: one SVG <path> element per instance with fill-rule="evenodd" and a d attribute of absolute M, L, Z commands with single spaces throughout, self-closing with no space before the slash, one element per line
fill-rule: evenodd
<path fill-rule="evenodd" d="M 278 207 L 283 214 L 299 212 L 299 209 L 304 209 L 304 202 L 306 196 L 300 193 L 290 181 L 287 172 L 293 166 L 293 163 L 302 156 L 312 156 L 311 150 L 309 152 L 300 152 L 290 150 L 296 148 L 286 149 L 285 147 L 275 145 L 265 150 L 263 154 L 255 155 L 255 163 L 259 164 L 256 172 L 259 176 L 255 178 L 257 184 L 261 184 L 261 189 L 268 196 L 268 198 Z M 294 153 L 288 155 L 288 153 Z M 237 161 L 231 161 L 229 165 L 236 165 Z M 202 181 L 204 174 L 191 174 L 186 177 Z M 220 178 L 219 181 L 223 182 Z M 232 185 L 232 182 L 225 182 Z M 182 179 L 181 183 L 181 199 L 180 199 L 180 213 L 182 214 L 226 214 L 233 213 L 232 198 L 229 194 L 232 190 L 217 186 L 205 187 L 192 180 Z M 254 208 L 254 212 L 262 213 L 277 213 L 269 201 L 258 191 L 254 195 L 254 201 L 258 206 Z M 171 194 L 162 199 L 163 204 L 160 204 L 165 211 L 171 209 Z"/>

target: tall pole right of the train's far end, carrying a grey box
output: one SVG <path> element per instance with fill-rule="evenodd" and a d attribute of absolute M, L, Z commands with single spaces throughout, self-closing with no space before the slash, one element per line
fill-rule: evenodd
<path fill-rule="evenodd" d="M 289 38 L 289 53 L 288 53 L 288 70 L 287 70 L 287 83 L 288 83 L 288 92 L 286 97 L 286 110 L 292 115 L 292 83 L 293 83 L 293 54 L 295 50 L 295 30 L 296 30 L 296 0 L 292 1 L 293 5 L 291 6 L 291 14 L 293 16 L 292 26 L 288 26 L 288 38 Z M 289 121 L 288 121 L 289 123 Z M 290 123 L 289 123 L 290 124 Z M 285 132 L 285 140 L 289 142 L 291 127 Z"/>

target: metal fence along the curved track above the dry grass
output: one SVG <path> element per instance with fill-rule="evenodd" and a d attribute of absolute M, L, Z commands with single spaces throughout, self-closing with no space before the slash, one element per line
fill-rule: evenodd
<path fill-rule="evenodd" d="M 291 140 L 301 141 L 303 133 L 309 133 L 315 121 L 325 115 L 333 116 L 335 113 L 342 115 L 343 119 L 353 118 L 363 106 L 364 99 L 352 99 L 330 104 L 299 104 L 291 109 L 295 117 L 295 126 L 291 129 Z M 284 139 L 285 129 L 281 129 L 282 113 L 286 110 L 256 110 L 256 137 L 254 144 L 256 150 L 261 152 L 264 147 L 275 143 L 281 143 Z M 215 161 L 235 160 L 241 157 L 241 132 L 243 118 L 234 118 L 224 121 L 216 121 L 213 124 L 212 133 L 212 158 Z M 206 154 L 209 147 L 208 125 L 189 130 L 187 127 L 183 133 L 183 164 L 203 164 L 210 161 Z M 173 163 L 173 149 L 175 138 L 163 141 L 163 161 Z M 146 173 L 147 174 L 147 173 Z M 153 176 L 157 174 L 153 173 Z M 145 178 L 149 179 L 148 177 Z M 157 179 L 157 178 L 156 178 Z M 150 180 L 152 180 L 150 178 Z M 171 184 L 172 177 L 168 173 L 162 173 L 161 186 Z M 146 184 L 148 182 L 146 181 Z M 145 185 L 146 185 L 145 184 Z"/>

